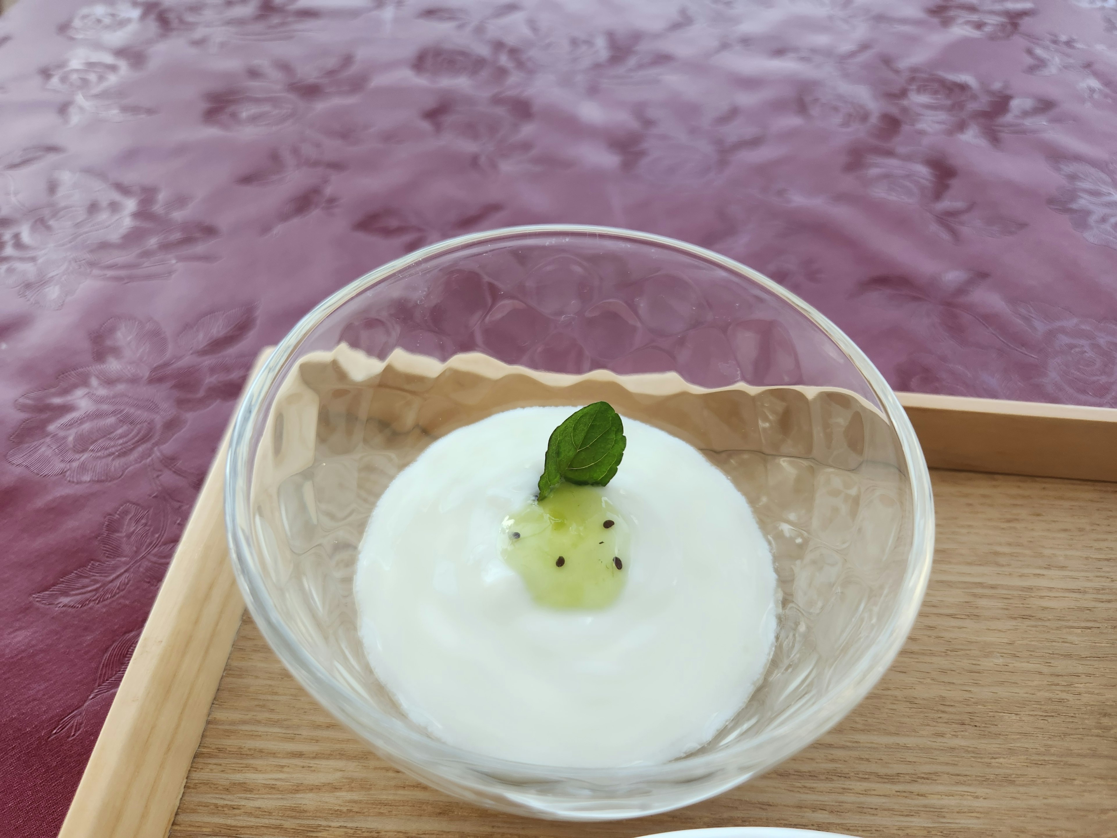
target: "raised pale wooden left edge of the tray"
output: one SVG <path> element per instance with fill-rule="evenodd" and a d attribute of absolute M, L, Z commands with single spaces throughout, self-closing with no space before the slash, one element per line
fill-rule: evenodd
<path fill-rule="evenodd" d="M 252 373 L 270 350 L 257 359 Z M 59 838 L 166 834 L 245 602 L 225 537 L 228 432 L 101 729 Z"/>

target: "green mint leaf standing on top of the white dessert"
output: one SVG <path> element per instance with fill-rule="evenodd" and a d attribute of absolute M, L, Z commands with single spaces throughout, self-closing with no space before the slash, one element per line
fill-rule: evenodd
<path fill-rule="evenodd" d="M 624 426 L 609 402 L 595 401 L 575 411 L 554 429 L 540 477 L 543 501 L 562 480 L 580 486 L 604 486 L 624 456 Z"/>

